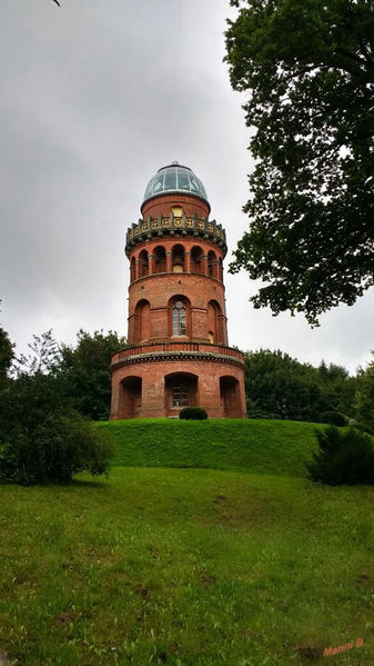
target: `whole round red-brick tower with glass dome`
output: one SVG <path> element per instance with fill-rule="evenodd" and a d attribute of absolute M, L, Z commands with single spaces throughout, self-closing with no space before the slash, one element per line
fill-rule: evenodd
<path fill-rule="evenodd" d="M 201 180 L 172 162 L 151 178 L 127 233 L 129 347 L 112 358 L 111 418 L 246 416 L 243 354 L 228 346 L 225 231 Z"/>

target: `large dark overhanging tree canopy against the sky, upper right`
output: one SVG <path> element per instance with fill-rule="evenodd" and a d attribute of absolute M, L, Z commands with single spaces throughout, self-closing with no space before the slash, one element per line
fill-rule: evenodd
<path fill-rule="evenodd" d="M 264 280 L 254 307 L 316 325 L 374 284 L 374 2 L 231 4 L 226 61 L 255 158 L 231 270 Z"/>

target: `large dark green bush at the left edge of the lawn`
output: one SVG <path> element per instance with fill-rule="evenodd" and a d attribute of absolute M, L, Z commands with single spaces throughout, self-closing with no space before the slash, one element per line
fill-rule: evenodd
<path fill-rule="evenodd" d="M 74 474 L 108 474 L 113 456 L 102 430 L 69 408 L 50 376 L 8 381 L 0 396 L 0 480 L 65 483 Z"/>

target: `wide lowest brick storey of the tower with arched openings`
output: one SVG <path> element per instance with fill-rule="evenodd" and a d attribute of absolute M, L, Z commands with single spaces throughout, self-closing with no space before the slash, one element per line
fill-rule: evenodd
<path fill-rule="evenodd" d="M 169 342 L 113 357 L 111 419 L 178 417 L 186 406 L 202 407 L 211 418 L 245 418 L 243 355 L 216 345 Z"/>

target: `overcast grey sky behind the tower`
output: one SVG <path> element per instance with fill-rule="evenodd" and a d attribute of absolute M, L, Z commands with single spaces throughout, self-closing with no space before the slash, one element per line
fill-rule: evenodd
<path fill-rule="evenodd" d="M 125 229 L 172 160 L 202 179 L 229 255 L 247 228 L 251 156 L 224 56 L 229 0 L 1 1 L 1 325 L 18 349 L 53 328 L 127 334 Z M 374 348 L 374 291 L 311 329 L 249 304 L 225 276 L 230 342 L 354 371 Z"/>

